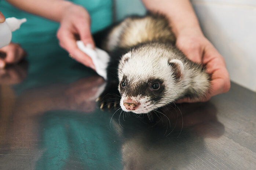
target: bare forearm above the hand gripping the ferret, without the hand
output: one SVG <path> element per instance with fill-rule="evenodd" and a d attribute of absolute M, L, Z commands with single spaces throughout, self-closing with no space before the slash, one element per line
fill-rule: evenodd
<path fill-rule="evenodd" d="M 167 15 L 176 37 L 184 31 L 202 34 L 197 16 L 189 0 L 142 0 L 150 11 Z"/>

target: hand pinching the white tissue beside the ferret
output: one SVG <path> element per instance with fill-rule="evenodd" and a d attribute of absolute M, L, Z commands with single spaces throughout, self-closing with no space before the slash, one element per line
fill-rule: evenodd
<path fill-rule="evenodd" d="M 90 32 L 88 12 L 83 7 L 71 4 L 66 8 L 60 24 L 57 32 L 60 46 L 70 53 L 70 57 L 95 70 L 92 59 L 78 49 L 76 44 L 76 36 L 79 35 L 85 46 L 95 46 Z"/>

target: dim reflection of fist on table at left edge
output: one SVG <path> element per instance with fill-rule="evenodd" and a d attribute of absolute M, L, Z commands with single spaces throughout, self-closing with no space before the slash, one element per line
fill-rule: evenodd
<path fill-rule="evenodd" d="M 12 85 L 21 83 L 27 76 L 28 62 L 22 61 L 19 64 L 7 65 L 0 69 L 0 84 Z"/>

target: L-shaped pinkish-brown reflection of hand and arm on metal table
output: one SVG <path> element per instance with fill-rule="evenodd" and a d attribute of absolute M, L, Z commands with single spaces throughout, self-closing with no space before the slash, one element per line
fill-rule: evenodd
<path fill-rule="evenodd" d="M 24 91 L 15 102 L 11 134 L 15 139 L 28 141 L 17 147 L 36 147 L 43 114 L 48 111 L 72 110 L 90 113 L 104 80 L 99 76 L 82 78 L 70 84 L 54 84 Z M 29 136 L 27 134 L 30 134 Z"/>

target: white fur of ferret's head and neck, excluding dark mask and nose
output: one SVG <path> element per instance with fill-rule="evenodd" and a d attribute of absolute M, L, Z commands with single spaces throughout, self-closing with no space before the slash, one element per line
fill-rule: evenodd
<path fill-rule="evenodd" d="M 169 63 L 178 64 L 181 77 L 178 82 L 172 78 L 173 69 Z M 141 105 L 138 109 L 133 110 L 134 113 L 148 113 L 158 107 L 167 105 L 184 95 L 187 88 L 191 88 L 190 83 L 196 82 L 193 88 L 201 88 L 202 91 L 207 91 L 209 82 L 205 82 L 208 75 L 197 72 L 189 68 L 187 63 L 182 61 L 182 58 L 173 53 L 171 50 L 166 50 L 160 46 L 146 46 L 145 49 L 136 50 L 136 52 L 128 52 L 122 56 L 118 66 L 118 79 L 122 80 L 123 76 L 127 76 L 127 81 L 132 82 L 134 87 L 138 86 L 140 82 L 145 82 L 147 78 L 155 77 L 164 80 L 165 91 L 162 94 L 161 102 L 151 105 L 150 97 L 137 96 L 132 99 L 140 101 Z M 192 78 L 194 77 L 194 79 Z M 204 89 L 202 89 L 204 88 Z M 120 91 L 120 87 L 119 87 Z M 123 101 L 127 99 L 127 94 L 122 94 L 120 105 L 124 111 Z M 129 97 L 131 98 L 131 97 Z"/>

